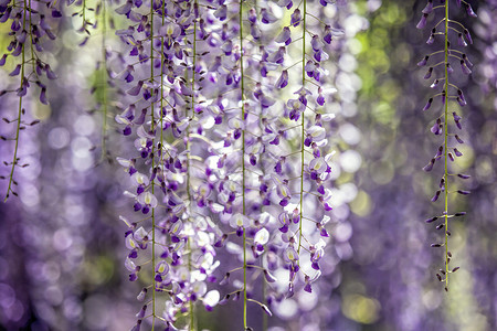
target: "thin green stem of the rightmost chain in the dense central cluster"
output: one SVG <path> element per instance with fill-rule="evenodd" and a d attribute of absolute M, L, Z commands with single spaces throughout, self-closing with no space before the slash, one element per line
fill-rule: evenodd
<path fill-rule="evenodd" d="M 306 84 L 306 17 L 307 17 L 307 1 L 304 0 L 304 13 L 303 13 L 303 26 L 302 26 L 302 87 Z M 300 115 L 302 122 L 300 122 L 300 135 L 302 135 L 302 141 L 300 141 L 300 221 L 298 223 L 298 248 L 297 253 L 300 254 L 300 247 L 302 247 L 302 223 L 304 221 L 304 141 L 305 141 L 305 122 L 304 122 L 304 116 L 305 108 Z"/>

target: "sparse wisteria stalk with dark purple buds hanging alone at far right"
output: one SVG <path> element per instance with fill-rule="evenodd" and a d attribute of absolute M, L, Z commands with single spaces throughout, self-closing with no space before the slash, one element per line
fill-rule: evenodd
<path fill-rule="evenodd" d="M 473 12 L 470 4 L 466 1 L 459 1 L 457 3 L 459 7 L 461 4 L 464 4 L 466 7 L 466 11 L 468 15 L 476 17 L 476 14 Z M 426 172 L 430 172 L 433 170 L 435 163 L 437 160 L 443 158 L 443 168 L 444 168 L 444 174 L 440 181 L 438 190 L 435 192 L 435 194 L 432 197 L 432 202 L 436 202 L 441 196 L 443 196 L 444 201 L 444 211 L 443 214 L 438 217 L 431 217 L 426 220 L 426 223 L 432 223 L 437 221 L 438 218 L 443 223 L 436 225 L 436 229 L 444 228 L 444 239 L 442 243 L 434 243 L 431 244 L 431 247 L 444 247 L 444 268 L 440 269 L 440 274 L 436 274 L 436 277 L 440 281 L 444 282 L 444 289 L 445 291 L 448 291 L 448 278 L 452 273 L 456 271 L 458 267 L 451 269 L 450 268 L 450 261 L 452 258 L 452 254 L 448 250 L 448 237 L 451 236 L 451 231 L 448 226 L 448 221 L 454 215 L 463 215 L 464 212 L 457 212 L 454 215 L 451 215 L 450 210 L 450 194 L 451 193 L 458 193 L 462 195 L 467 195 L 470 192 L 465 190 L 456 190 L 455 192 L 450 191 L 450 186 L 454 185 L 454 181 L 451 180 L 450 184 L 450 178 L 451 178 L 451 171 L 450 171 L 450 163 L 455 161 L 456 157 L 462 157 L 463 153 L 455 148 L 454 143 L 464 143 L 464 140 L 462 140 L 458 135 L 451 132 L 451 128 L 457 127 L 458 129 L 462 129 L 461 119 L 462 117 L 458 116 L 455 111 L 453 111 L 453 122 L 454 125 L 450 126 L 450 102 L 451 100 L 457 100 L 457 104 L 463 107 L 467 105 L 467 102 L 464 97 L 463 90 L 456 86 L 455 84 L 451 83 L 450 75 L 454 73 L 454 67 L 451 65 L 451 61 L 458 61 L 461 65 L 461 71 L 465 75 L 469 75 L 472 71 L 469 67 L 473 66 L 473 64 L 467 58 L 467 55 L 458 50 L 455 50 L 453 45 L 458 45 L 462 47 L 466 47 L 467 44 L 473 43 L 472 36 L 469 34 L 469 31 L 461 23 L 454 20 L 450 19 L 450 1 L 445 1 L 443 6 L 433 7 L 433 1 L 430 0 L 426 7 L 423 9 L 423 17 L 421 18 L 420 22 L 417 23 L 417 29 L 424 29 L 426 25 L 426 19 L 427 17 L 435 10 L 435 9 L 444 9 L 443 11 L 443 19 L 436 23 L 435 28 L 433 28 L 430 39 L 426 42 L 427 44 L 432 44 L 435 41 L 435 38 L 437 35 L 444 36 L 444 47 L 441 51 L 432 52 L 430 55 L 426 55 L 421 62 L 417 63 L 417 66 L 425 66 L 429 61 L 431 61 L 432 57 L 436 57 L 437 54 L 443 54 L 444 58 L 443 61 L 437 62 L 435 65 L 431 65 L 429 68 L 427 74 L 424 76 L 425 79 L 431 78 L 432 74 L 436 74 L 436 70 L 441 70 L 441 66 L 443 65 L 443 76 L 441 78 L 435 78 L 434 83 L 431 85 L 431 88 L 438 88 L 438 86 L 443 86 L 443 90 L 441 93 L 435 94 L 432 96 L 427 104 L 424 106 L 423 111 L 426 111 L 431 108 L 432 103 L 435 98 L 442 99 L 443 105 L 443 114 L 436 119 L 435 124 L 432 126 L 431 131 L 435 136 L 441 136 L 443 134 L 443 145 L 440 146 L 436 154 L 431 159 L 430 163 L 426 164 L 423 170 Z M 441 23 L 444 22 L 443 29 L 444 32 L 436 32 L 436 28 L 441 25 Z M 459 30 L 462 29 L 462 30 Z M 453 42 L 451 44 L 451 36 L 455 35 L 457 38 L 457 43 Z M 466 42 L 467 41 L 467 42 Z M 443 84 L 441 84 L 443 82 Z M 455 92 L 454 92 L 455 90 Z M 453 137 L 453 138 L 452 138 Z M 454 141 L 455 140 L 455 141 Z M 459 179 L 467 179 L 468 177 L 465 174 L 458 174 Z M 443 193 L 443 194 L 442 194 Z"/>

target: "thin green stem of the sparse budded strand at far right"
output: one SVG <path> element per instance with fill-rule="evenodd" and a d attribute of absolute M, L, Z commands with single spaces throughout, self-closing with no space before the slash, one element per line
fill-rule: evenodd
<path fill-rule="evenodd" d="M 448 158 L 448 1 L 445 1 L 445 105 L 444 105 L 444 195 L 445 195 L 445 290 L 448 290 L 448 170 L 447 170 L 447 158 Z"/>

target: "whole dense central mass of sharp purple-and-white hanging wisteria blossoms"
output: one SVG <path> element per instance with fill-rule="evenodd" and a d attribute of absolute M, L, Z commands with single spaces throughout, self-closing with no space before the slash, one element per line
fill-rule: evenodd
<path fill-rule="evenodd" d="M 313 290 L 331 211 L 334 116 L 325 107 L 335 89 L 322 64 L 341 34 L 319 18 L 326 6 L 197 0 L 116 9 L 129 22 L 116 32 L 128 49 L 116 121 L 136 149 L 118 158 L 136 212 L 136 221 L 121 217 L 125 266 L 146 302 L 135 330 L 148 317 L 194 330 L 198 302 L 211 310 L 230 298 L 243 300 L 251 330 L 250 302 L 272 314 L 296 288 Z M 219 279 L 223 247 L 236 258 Z M 286 280 L 274 276 L 282 270 Z M 256 279 L 267 282 L 262 300 Z M 219 281 L 223 298 L 209 290 Z"/>

